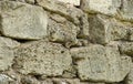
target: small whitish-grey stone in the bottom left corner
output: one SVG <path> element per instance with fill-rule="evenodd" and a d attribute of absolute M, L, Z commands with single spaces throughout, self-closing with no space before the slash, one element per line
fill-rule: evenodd
<path fill-rule="evenodd" d="M 17 82 L 6 74 L 0 74 L 0 84 L 17 84 Z"/>

